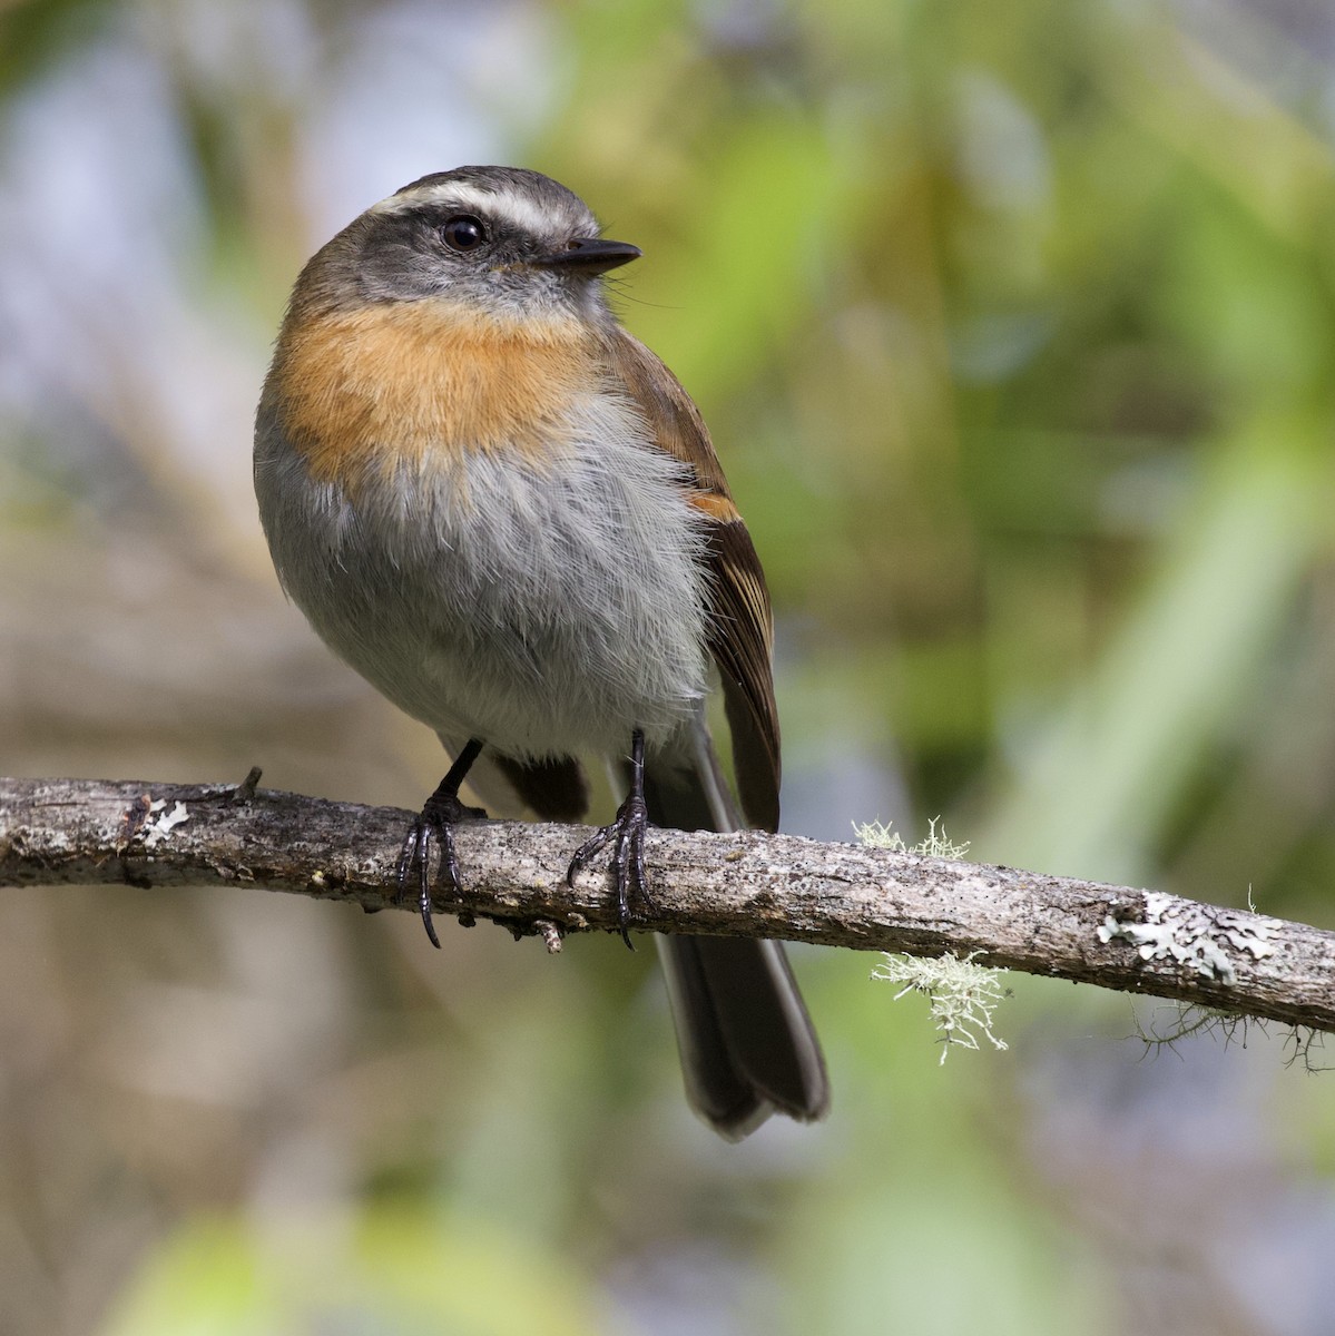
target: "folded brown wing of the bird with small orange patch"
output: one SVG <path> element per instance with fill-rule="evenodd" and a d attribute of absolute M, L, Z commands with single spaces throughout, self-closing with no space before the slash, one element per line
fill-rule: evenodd
<path fill-rule="evenodd" d="M 657 445 L 691 470 L 690 501 L 708 517 L 708 648 L 723 680 L 738 796 L 748 822 L 778 830 L 779 715 L 770 667 L 774 620 L 760 558 L 691 397 L 625 330 L 609 335 L 608 350 L 612 373 L 640 406 Z"/>

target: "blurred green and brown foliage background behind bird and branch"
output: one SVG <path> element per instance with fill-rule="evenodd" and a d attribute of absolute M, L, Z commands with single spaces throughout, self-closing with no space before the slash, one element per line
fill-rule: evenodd
<path fill-rule="evenodd" d="M 1335 926 L 1335 17 L 1319 0 L 0 7 L 0 768 L 416 808 L 282 600 L 302 261 L 532 166 L 712 425 L 786 828 Z M 688 1114 L 652 953 L 261 891 L 0 896 L 4 1333 L 1335 1329 L 1335 1075 L 1012 981 L 939 1047 L 802 951 L 834 1112 Z M 1335 1055 L 1331 1062 L 1335 1063 Z"/>

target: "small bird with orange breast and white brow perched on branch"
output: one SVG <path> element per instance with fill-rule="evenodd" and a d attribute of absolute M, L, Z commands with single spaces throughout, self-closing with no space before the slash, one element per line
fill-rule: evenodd
<path fill-rule="evenodd" d="M 625 794 L 611 846 L 621 935 L 652 907 L 651 826 L 779 824 L 772 615 L 708 429 L 615 314 L 640 257 L 565 186 L 433 172 L 306 263 L 255 418 L 254 481 L 287 596 L 326 645 L 434 729 L 452 763 L 398 862 L 426 934 L 472 788 L 577 822 L 585 766 Z M 722 692 L 734 784 L 706 709 Z M 629 752 L 627 752 L 629 747 Z M 686 1093 L 738 1141 L 821 1118 L 829 1079 L 782 943 L 657 938 Z"/>

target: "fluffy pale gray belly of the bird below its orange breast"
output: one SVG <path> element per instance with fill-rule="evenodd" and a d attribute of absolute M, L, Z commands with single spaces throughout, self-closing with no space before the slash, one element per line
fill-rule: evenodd
<path fill-rule="evenodd" d="M 700 524 L 635 444 L 544 470 L 470 456 L 357 489 L 314 484 L 261 422 L 274 564 L 326 644 L 437 732 L 516 756 L 665 743 L 706 691 Z"/>

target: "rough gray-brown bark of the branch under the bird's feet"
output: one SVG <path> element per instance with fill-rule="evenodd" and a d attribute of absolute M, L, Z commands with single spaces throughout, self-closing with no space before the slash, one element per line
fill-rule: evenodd
<path fill-rule="evenodd" d="M 0 779 L 0 884 L 251 886 L 394 907 L 410 814 L 242 786 Z M 178 806 L 179 804 L 179 806 Z M 616 931 L 603 876 L 565 884 L 585 828 L 461 826 L 466 896 L 516 935 Z M 645 931 L 980 963 L 1335 1030 L 1335 933 L 1156 891 L 794 835 L 656 831 Z M 404 907 L 404 906 L 400 906 Z M 410 906 L 409 906 L 410 907 Z"/>

